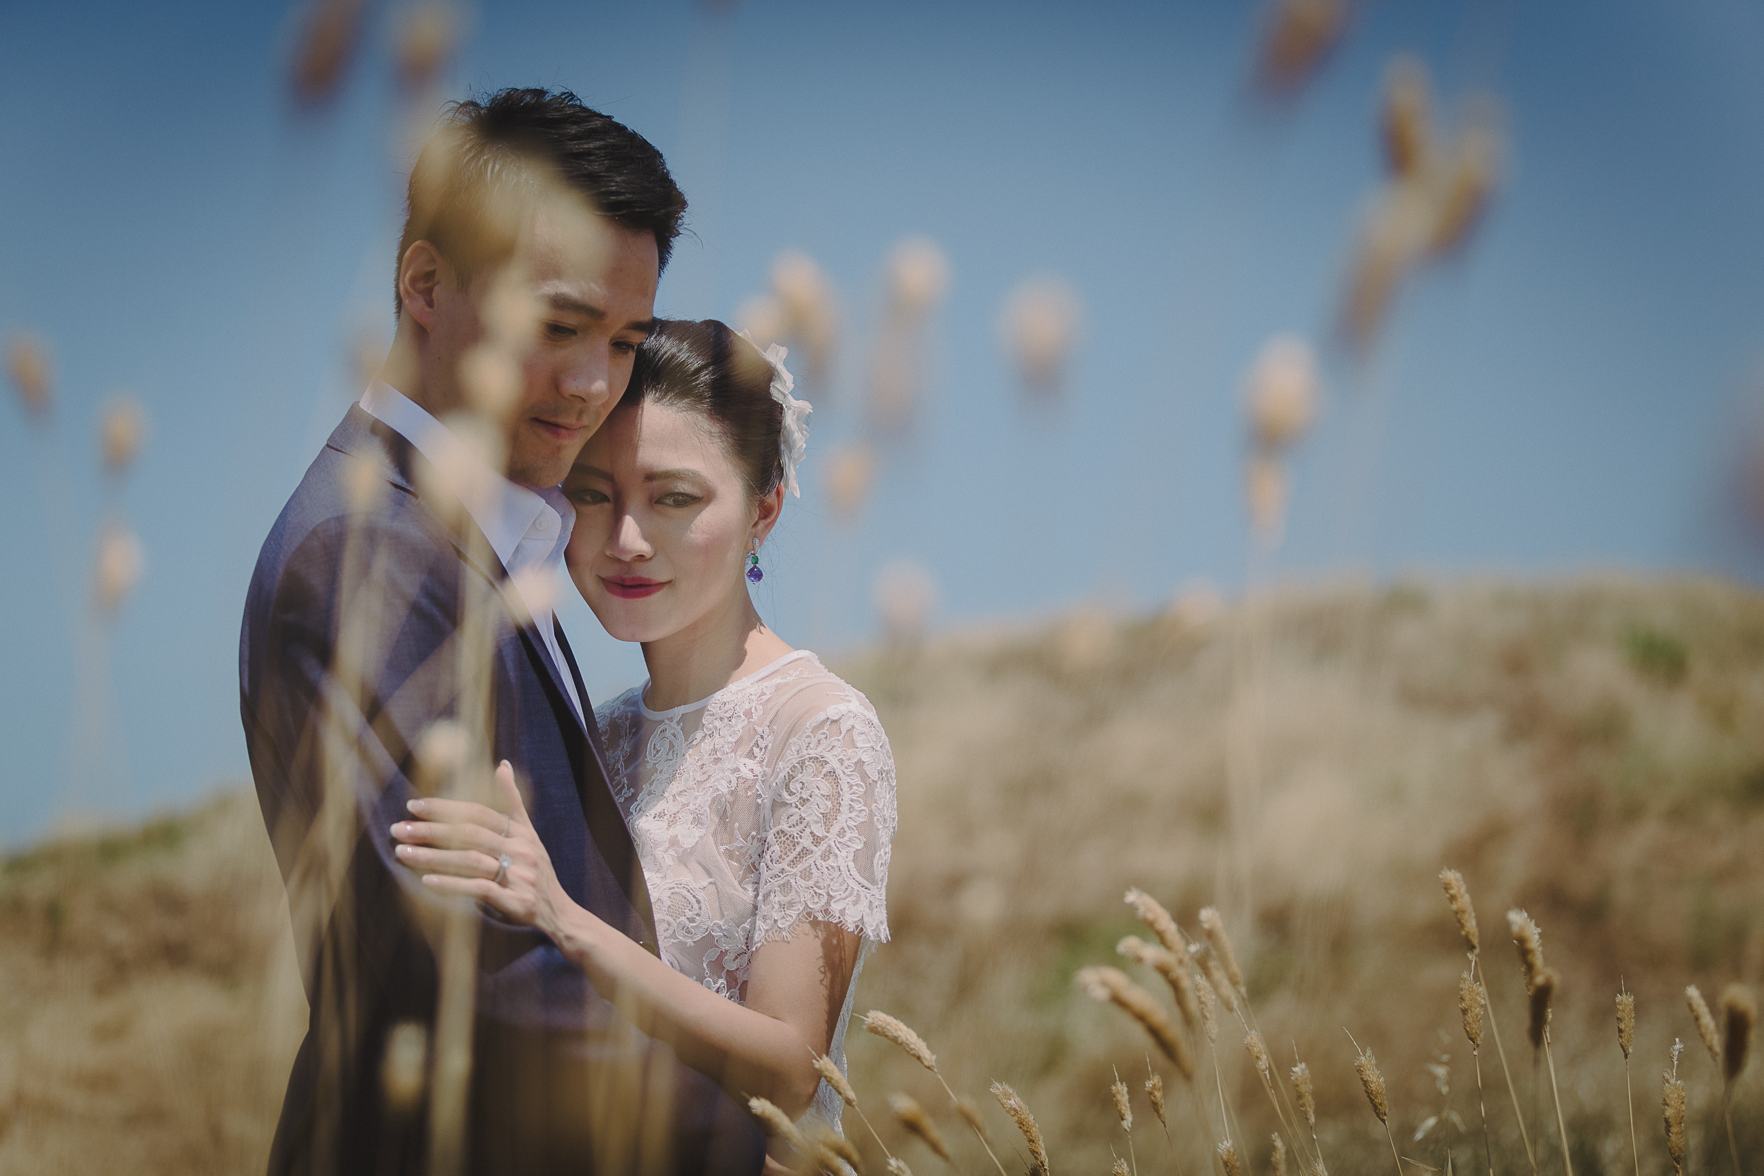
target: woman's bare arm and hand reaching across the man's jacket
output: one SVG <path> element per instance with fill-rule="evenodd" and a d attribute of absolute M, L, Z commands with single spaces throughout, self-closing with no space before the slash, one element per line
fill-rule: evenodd
<path fill-rule="evenodd" d="M 496 779 L 503 811 L 464 800 L 411 800 L 416 820 L 392 827 L 399 860 L 436 892 L 478 899 L 543 931 L 646 1033 L 672 1046 L 681 1061 L 730 1095 L 759 1095 L 801 1116 L 815 1098 L 820 1079 L 813 1058 L 833 1040 L 859 938 L 834 924 L 804 920 L 789 940 L 753 952 L 748 1003 L 737 1005 L 572 901 L 506 762 Z M 510 860 L 506 871 L 501 857 Z"/>

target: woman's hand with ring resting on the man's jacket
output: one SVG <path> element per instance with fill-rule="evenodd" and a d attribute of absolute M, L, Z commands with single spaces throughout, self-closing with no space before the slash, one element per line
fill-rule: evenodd
<path fill-rule="evenodd" d="M 512 922 L 556 938 L 557 919 L 573 903 L 557 885 L 550 853 L 527 820 L 508 760 L 496 769 L 496 800 L 494 809 L 439 797 L 409 800 L 406 808 L 416 820 L 392 827 L 399 843 L 393 852 L 430 890 L 478 899 Z"/>

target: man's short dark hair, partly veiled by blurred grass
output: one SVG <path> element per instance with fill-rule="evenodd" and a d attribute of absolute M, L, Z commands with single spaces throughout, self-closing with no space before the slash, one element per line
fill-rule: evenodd
<path fill-rule="evenodd" d="M 538 169 L 614 224 L 653 233 L 660 268 L 667 268 L 686 215 L 686 196 L 667 160 L 568 90 L 497 90 L 446 109 L 411 167 L 397 264 L 413 242 L 427 240 L 469 284 L 513 243 L 503 197 L 527 187 Z M 404 309 L 397 277 L 393 305 Z"/>

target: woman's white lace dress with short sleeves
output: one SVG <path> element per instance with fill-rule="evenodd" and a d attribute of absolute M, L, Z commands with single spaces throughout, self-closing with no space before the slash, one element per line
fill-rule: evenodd
<path fill-rule="evenodd" d="M 647 688 L 594 718 L 662 957 L 743 1003 L 753 952 L 804 919 L 863 936 L 827 1051 L 843 1070 L 857 973 L 887 942 L 894 758 L 875 709 L 806 649 L 672 711 Z M 822 1083 L 804 1120 L 840 1130 L 841 1111 Z"/>

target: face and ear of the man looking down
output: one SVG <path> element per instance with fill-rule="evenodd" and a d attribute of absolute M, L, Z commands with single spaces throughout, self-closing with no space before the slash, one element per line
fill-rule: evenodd
<path fill-rule="evenodd" d="M 496 337 L 497 316 L 506 324 L 508 307 L 519 307 L 508 339 L 519 381 L 510 374 L 517 386 L 503 416 L 510 481 L 559 485 L 624 395 L 654 323 L 658 270 L 653 233 L 540 205 L 513 268 L 483 273 L 464 291 L 452 282 L 436 289 L 432 358 L 436 376 L 452 384 L 436 390 L 441 404 L 473 402 L 462 390 L 473 353 Z"/>

